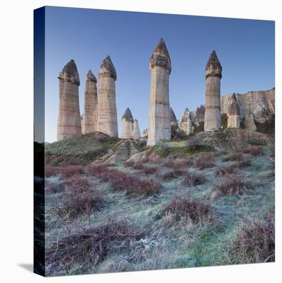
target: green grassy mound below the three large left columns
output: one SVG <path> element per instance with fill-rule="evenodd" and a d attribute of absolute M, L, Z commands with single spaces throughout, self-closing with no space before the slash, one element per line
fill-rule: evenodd
<path fill-rule="evenodd" d="M 113 147 L 119 138 L 95 132 L 66 138 L 45 147 L 47 166 L 86 165 Z"/>

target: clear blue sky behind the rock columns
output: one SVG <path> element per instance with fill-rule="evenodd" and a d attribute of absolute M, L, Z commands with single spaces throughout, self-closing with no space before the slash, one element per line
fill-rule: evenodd
<path fill-rule="evenodd" d="M 172 61 L 170 104 L 177 119 L 185 107 L 205 103 L 205 64 L 216 50 L 222 65 L 221 95 L 275 86 L 274 22 L 190 15 L 46 7 L 45 140 L 57 138 L 58 74 L 73 59 L 80 75 L 83 113 L 85 77 L 97 77 L 109 55 L 117 70 L 116 100 L 147 128 L 149 58 L 163 38 Z"/>

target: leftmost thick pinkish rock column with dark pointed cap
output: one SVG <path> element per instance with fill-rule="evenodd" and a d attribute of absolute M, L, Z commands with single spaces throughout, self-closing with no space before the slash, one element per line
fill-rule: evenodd
<path fill-rule="evenodd" d="M 76 63 L 70 60 L 59 74 L 59 114 L 57 140 L 81 135 L 79 109 L 79 74 Z"/>

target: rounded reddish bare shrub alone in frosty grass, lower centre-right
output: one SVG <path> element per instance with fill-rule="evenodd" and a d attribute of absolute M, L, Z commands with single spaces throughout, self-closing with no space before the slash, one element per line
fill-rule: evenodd
<path fill-rule="evenodd" d="M 175 220 L 180 220 L 182 217 L 189 218 L 195 223 L 212 222 L 214 221 L 213 207 L 203 200 L 194 199 L 190 197 L 176 198 L 167 203 L 162 214 L 173 214 Z"/>

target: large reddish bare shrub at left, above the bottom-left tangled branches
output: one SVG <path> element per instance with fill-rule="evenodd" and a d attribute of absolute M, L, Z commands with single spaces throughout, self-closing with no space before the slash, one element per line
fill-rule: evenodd
<path fill-rule="evenodd" d="M 53 207 L 56 214 L 73 218 L 84 213 L 91 215 L 93 210 L 100 209 L 102 198 L 90 190 L 86 179 L 75 176 L 66 181 L 65 185 L 64 196 L 60 196 Z"/>

